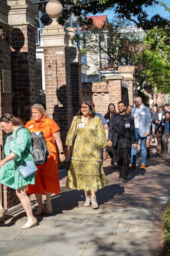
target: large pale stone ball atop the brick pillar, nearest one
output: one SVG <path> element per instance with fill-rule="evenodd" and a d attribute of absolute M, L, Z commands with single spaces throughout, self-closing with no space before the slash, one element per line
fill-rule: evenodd
<path fill-rule="evenodd" d="M 45 7 L 46 13 L 51 18 L 59 18 L 62 15 L 63 8 L 59 1 L 51 0 Z"/>

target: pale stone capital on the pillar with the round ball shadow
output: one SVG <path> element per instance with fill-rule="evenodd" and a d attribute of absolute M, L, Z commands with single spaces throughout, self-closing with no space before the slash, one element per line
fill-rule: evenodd
<path fill-rule="evenodd" d="M 29 0 L 7 0 L 11 10 L 8 22 L 14 27 L 27 26 L 36 31 L 34 4 Z"/>

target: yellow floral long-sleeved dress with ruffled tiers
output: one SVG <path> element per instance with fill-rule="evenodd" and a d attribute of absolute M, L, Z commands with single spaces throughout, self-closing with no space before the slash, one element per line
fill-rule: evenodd
<path fill-rule="evenodd" d="M 74 116 L 66 138 L 65 144 L 71 146 L 76 130 L 66 188 L 97 191 L 108 185 L 101 160 L 101 149 L 108 145 L 106 134 L 99 116 L 91 118 L 85 128 L 79 128 L 79 123 L 81 119 Z"/>

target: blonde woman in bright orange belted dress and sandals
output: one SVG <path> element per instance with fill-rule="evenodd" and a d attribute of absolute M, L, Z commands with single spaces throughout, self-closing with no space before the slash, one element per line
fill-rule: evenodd
<path fill-rule="evenodd" d="M 27 193 L 35 194 L 38 202 L 38 210 L 35 215 L 45 212 L 45 206 L 42 202 L 42 194 L 46 196 L 46 213 L 52 213 L 51 194 L 59 194 L 60 185 L 58 177 L 58 157 L 56 152 L 56 141 L 59 149 L 60 161 L 65 161 L 63 153 L 62 141 L 60 139 L 60 128 L 53 119 L 48 118 L 47 112 L 41 104 L 35 104 L 32 107 L 32 119 L 26 123 L 25 128 L 30 132 L 43 131 L 51 155 L 45 164 L 38 165 L 36 171 L 35 185 L 28 185 Z M 48 208 L 48 209 L 47 209 Z"/>

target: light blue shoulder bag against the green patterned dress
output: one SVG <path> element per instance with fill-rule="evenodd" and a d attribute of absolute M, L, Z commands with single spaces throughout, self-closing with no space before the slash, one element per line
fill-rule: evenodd
<path fill-rule="evenodd" d="M 27 147 L 26 147 L 27 149 Z M 27 151 L 33 155 L 29 149 L 27 149 Z M 14 161 L 14 159 L 13 159 Z M 16 166 L 16 163 L 14 161 L 14 164 Z M 27 177 L 29 177 L 31 174 L 35 173 L 38 169 L 36 167 L 36 165 L 32 162 L 32 161 L 27 161 L 24 162 L 23 164 L 21 164 L 19 167 L 16 166 L 16 169 L 19 171 L 19 173 L 21 174 L 22 178 L 25 179 Z"/>

